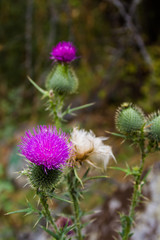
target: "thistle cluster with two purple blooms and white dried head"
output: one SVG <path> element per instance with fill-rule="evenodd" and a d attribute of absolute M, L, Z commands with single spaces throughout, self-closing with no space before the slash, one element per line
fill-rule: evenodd
<path fill-rule="evenodd" d="M 46 100 L 53 126 L 37 126 L 32 131 L 26 131 L 18 146 L 19 153 L 28 163 L 20 174 L 27 176 L 29 184 L 39 198 L 41 208 L 36 209 L 28 203 L 28 208 L 11 213 L 36 213 L 39 216 L 37 223 L 41 218 L 45 218 L 46 227 L 42 228 L 53 239 L 72 239 L 73 235 L 74 238 L 82 240 L 84 225 L 81 218 L 85 213 L 80 208 L 80 200 L 83 196 L 84 184 L 88 180 L 106 178 L 106 176 L 90 178 L 87 167 L 80 178 L 79 169 L 85 163 L 98 167 L 97 163 L 100 161 L 106 168 L 109 158 L 114 156 L 111 147 L 103 143 L 106 138 L 96 137 L 92 131 L 73 128 L 70 134 L 66 134 L 61 130 L 66 124 L 66 114 L 73 114 L 74 111 L 89 107 L 93 103 L 65 108 L 67 97 L 75 94 L 78 88 L 78 78 L 71 67 L 71 62 L 77 59 L 75 46 L 70 42 L 60 42 L 53 47 L 50 55 L 53 68 L 46 78 L 45 88 L 38 86 L 31 78 L 29 81 Z M 66 189 L 61 196 L 57 195 L 60 183 Z M 55 216 L 49 208 L 49 199 L 71 204 L 72 214 L 60 218 Z M 48 225 L 52 226 L 52 229 L 48 228 Z"/>

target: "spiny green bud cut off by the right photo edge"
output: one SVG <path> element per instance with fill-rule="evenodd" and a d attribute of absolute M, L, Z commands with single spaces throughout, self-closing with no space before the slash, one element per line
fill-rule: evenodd
<path fill-rule="evenodd" d="M 152 113 L 147 121 L 148 137 L 156 142 L 160 142 L 160 111 Z"/>

